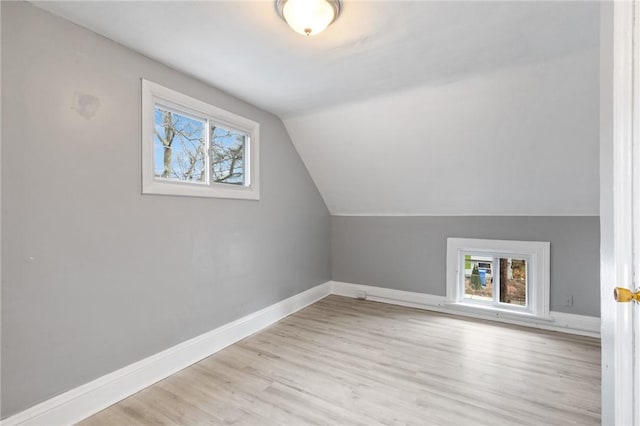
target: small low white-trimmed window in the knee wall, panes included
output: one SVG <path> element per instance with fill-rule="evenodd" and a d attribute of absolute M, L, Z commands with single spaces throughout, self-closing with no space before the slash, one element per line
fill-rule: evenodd
<path fill-rule="evenodd" d="M 447 239 L 447 299 L 469 308 L 549 315 L 548 242 Z"/>

